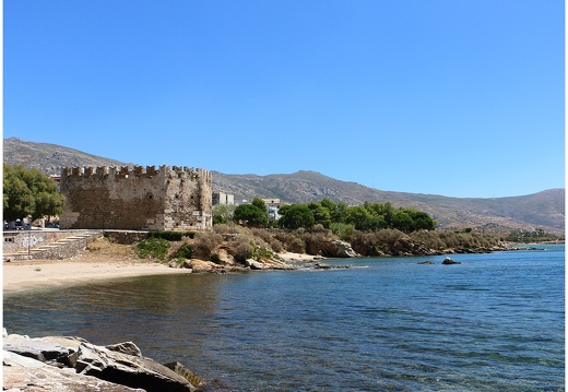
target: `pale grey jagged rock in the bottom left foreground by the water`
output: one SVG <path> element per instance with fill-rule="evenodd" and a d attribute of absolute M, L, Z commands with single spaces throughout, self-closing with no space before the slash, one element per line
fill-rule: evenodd
<path fill-rule="evenodd" d="M 184 365 L 161 365 L 132 342 L 98 346 L 79 337 L 12 334 L 4 335 L 3 348 L 8 391 L 193 392 L 202 384 Z"/>

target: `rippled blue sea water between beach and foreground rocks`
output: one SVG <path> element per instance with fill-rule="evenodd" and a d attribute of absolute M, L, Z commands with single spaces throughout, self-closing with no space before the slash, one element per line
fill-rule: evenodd
<path fill-rule="evenodd" d="M 205 391 L 564 391 L 565 247 L 535 247 L 42 288 L 4 295 L 3 321 L 132 341 Z"/>

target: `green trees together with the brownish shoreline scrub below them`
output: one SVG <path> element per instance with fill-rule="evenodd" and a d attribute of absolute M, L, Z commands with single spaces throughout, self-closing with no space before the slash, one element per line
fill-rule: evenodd
<path fill-rule="evenodd" d="M 191 256 L 222 263 L 245 263 L 277 258 L 281 252 L 341 257 L 338 243 L 364 257 L 426 256 L 454 252 L 487 252 L 505 249 L 498 236 L 475 231 L 438 230 L 425 212 L 394 207 L 391 203 L 348 206 L 328 199 L 284 205 L 280 219 L 269 218 L 264 202 L 214 209 L 211 233 L 186 238 Z M 171 251 L 175 257 L 175 249 Z"/>

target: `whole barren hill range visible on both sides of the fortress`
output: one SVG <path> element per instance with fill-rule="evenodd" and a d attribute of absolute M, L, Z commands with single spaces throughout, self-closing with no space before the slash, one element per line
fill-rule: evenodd
<path fill-rule="evenodd" d="M 26 142 L 16 138 L 4 139 L 3 142 L 4 163 L 22 164 L 48 174 L 60 174 L 62 167 L 128 165 L 56 144 Z M 168 163 L 156 163 L 156 166 Z M 448 198 L 382 191 L 356 182 L 336 180 L 317 171 L 269 176 L 213 171 L 213 189 L 233 193 L 235 200 L 260 197 L 305 203 L 328 198 L 350 205 L 365 201 L 391 202 L 395 206 L 425 211 L 438 221 L 439 227 L 445 228 L 472 227 L 499 233 L 542 228 L 557 234 L 564 234 L 565 230 L 565 189 L 549 189 L 510 198 Z"/>

